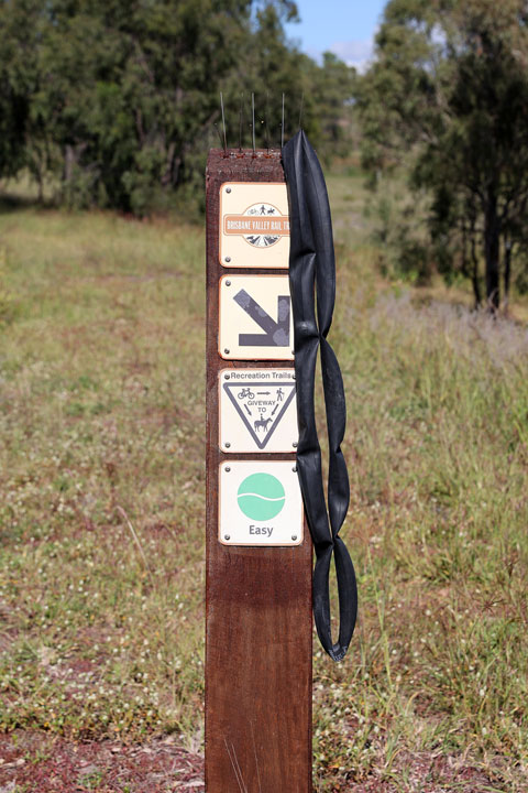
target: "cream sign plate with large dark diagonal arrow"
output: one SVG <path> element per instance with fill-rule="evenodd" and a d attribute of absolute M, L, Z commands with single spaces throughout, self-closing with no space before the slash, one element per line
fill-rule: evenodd
<path fill-rule="evenodd" d="M 220 279 L 222 358 L 293 360 L 294 324 L 287 275 L 223 275 Z"/>

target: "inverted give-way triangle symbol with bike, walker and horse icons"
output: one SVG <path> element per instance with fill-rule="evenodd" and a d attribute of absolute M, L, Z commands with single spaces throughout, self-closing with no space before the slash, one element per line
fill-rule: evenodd
<path fill-rule="evenodd" d="M 250 385 L 223 383 L 223 388 L 256 446 L 264 449 L 295 397 L 295 382 L 264 380 Z"/>

